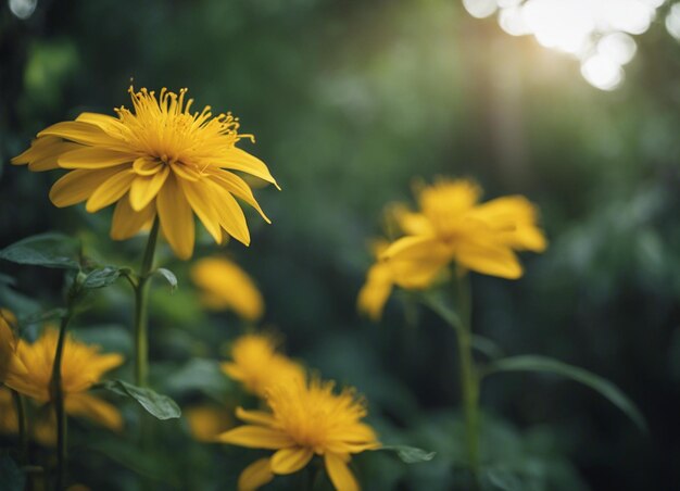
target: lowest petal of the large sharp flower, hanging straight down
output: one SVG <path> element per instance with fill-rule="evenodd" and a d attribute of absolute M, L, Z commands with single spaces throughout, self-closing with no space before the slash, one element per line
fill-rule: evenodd
<path fill-rule="evenodd" d="M 191 206 L 174 175 L 168 176 L 156 199 L 163 235 L 179 259 L 193 252 L 194 225 Z"/>

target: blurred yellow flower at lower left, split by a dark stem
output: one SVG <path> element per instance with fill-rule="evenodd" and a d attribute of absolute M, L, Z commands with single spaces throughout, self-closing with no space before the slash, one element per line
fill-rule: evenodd
<path fill-rule="evenodd" d="M 56 330 L 49 328 L 33 344 L 20 340 L 16 354 L 28 368 L 28 373 L 10 372 L 5 385 L 39 403 L 50 402 L 58 337 Z M 62 358 L 62 387 L 66 413 L 90 418 L 110 429 L 122 429 L 123 418 L 118 410 L 87 393 L 103 374 L 122 363 L 123 356 L 119 354 L 100 354 L 99 347 L 75 341 L 68 336 L 64 341 Z"/>

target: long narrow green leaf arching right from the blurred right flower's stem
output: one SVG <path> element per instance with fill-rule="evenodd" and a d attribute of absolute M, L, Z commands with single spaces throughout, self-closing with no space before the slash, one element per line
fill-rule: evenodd
<path fill-rule="evenodd" d="M 522 355 L 498 360 L 489 366 L 487 375 L 499 372 L 544 372 L 570 378 L 599 392 L 626 413 L 641 430 L 647 431 L 647 424 L 638 406 L 614 383 L 584 368 L 547 356 Z"/>

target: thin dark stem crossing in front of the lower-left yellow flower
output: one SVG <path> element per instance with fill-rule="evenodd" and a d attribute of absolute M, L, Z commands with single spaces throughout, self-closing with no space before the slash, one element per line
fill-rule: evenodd
<path fill-rule="evenodd" d="M 54 364 L 52 365 L 52 402 L 54 404 L 54 413 L 56 415 L 56 479 L 54 489 L 61 491 L 64 489 L 64 479 L 66 474 L 66 412 L 64 411 L 64 390 L 62 387 L 62 357 L 64 354 L 64 343 L 66 341 L 66 332 L 68 323 L 73 317 L 73 301 L 75 294 L 70 294 L 66 306 L 66 315 L 62 317 L 59 328 L 59 339 L 56 341 L 56 352 L 54 353 Z"/>

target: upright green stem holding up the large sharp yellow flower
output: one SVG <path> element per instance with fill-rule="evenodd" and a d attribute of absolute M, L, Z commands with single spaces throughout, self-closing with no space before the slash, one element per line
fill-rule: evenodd
<path fill-rule="evenodd" d="M 149 372 L 149 333 L 147 304 L 149 299 L 149 275 L 153 269 L 153 256 L 159 238 L 159 218 L 153 221 L 149 240 L 141 261 L 139 279 L 135 288 L 135 383 L 146 387 Z"/>

